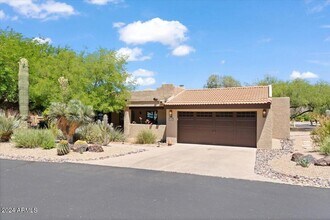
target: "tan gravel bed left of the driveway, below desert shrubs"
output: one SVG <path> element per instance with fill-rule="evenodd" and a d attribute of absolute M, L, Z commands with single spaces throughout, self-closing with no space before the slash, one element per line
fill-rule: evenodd
<path fill-rule="evenodd" d="M 50 150 L 41 148 L 16 148 L 13 143 L 0 143 L 0 158 L 43 162 L 76 162 L 103 160 L 110 157 L 119 157 L 146 151 L 145 148 L 140 146 L 122 144 L 110 144 L 103 147 L 103 149 L 104 152 L 84 152 L 81 154 L 71 151 L 67 155 L 58 156 L 56 148 Z"/>

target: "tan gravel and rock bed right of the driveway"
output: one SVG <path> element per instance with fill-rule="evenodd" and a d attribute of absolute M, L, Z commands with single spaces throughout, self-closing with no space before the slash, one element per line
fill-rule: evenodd
<path fill-rule="evenodd" d="M 265 177 L 278 179 L 290 184 L 330 188 L 330 167 L 310 165 L 304 168 L 291 161 L 294 152 L 312 154 L 316 158 L 322 157 L 311 148 L 302 147 L 302 139 L 309 137 L 309 133 L 295 133 L 292 139 L 282 140 L 282 149 L 257 149 L 255 173 Z"/>

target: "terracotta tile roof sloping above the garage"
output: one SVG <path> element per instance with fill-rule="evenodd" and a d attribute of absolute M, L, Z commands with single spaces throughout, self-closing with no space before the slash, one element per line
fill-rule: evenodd
<path fill-rule="evenodd" d="M 268 86 L 184 90 L 165 105 L 267 104 Z"/>

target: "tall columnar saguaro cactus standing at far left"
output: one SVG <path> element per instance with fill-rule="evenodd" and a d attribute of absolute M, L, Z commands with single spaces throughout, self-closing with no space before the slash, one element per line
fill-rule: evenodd
<path fill-rule="evenodd" d="M 18 101 L 20 116 L 26 122 L 29 116 L 29 64 L 25 58 L 19 61 Z"/>

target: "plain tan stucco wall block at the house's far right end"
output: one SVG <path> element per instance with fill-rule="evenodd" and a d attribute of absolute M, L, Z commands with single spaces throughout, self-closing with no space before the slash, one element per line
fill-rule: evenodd
<path fill-rule="evenodd" d="M 273 138 L 290 137 L 290 98 L 272 98 Z"/>

